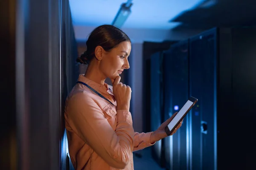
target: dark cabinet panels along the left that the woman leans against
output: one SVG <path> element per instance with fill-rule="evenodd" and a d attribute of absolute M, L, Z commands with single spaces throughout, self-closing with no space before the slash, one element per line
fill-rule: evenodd
<path fill-rule="evenodd" d="M 0 169 L 61 169 L 63 101 L 77 78 L 69 1 L 4 0 L 0 12 Z"/>

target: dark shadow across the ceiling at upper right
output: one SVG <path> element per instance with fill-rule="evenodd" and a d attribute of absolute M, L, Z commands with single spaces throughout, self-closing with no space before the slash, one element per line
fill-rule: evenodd
<path fill-rule="evenodd" d="M 170 20 L 182 23 L 172 30 L 256 25 L 256 2 L 253 0 L 217 0 L 209 8 L 200 6 Z"/>

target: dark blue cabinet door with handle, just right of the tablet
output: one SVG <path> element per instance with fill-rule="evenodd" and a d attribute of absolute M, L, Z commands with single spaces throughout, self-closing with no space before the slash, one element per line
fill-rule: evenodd
<path fill-rule="evenodd" d="M 190 39 L 189 92 L 198 98 L 190 111 L 190 169 L 214 170 L 216 143 L 216 30 Z"/>

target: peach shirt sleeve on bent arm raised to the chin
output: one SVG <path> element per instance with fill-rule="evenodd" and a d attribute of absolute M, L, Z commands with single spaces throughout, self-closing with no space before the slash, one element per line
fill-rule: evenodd
<path fill-rule="evenodd" d="M 96 102 L 84 94 L 70 99 L 67 107 L 70 127 L 111 167 L 124 169 L 133 151 L 134 129 L 131 113 L 117 111 L 113 130 Z"/>

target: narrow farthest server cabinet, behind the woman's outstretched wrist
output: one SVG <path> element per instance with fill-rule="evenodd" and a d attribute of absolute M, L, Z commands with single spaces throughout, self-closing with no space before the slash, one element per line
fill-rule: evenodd
<path fill-rule="evenodd" d="M 157 52 L 151 55 L 151 131 L 157 130 L 162 123 L 162 96 L 163 89 L 161 85 L 162 81 L 162 52 Z M 152 146 L 152 157 L 157 161 L 160 166 L 163 166 L 162 159 L 162 141 L 157 141 Z"/>

